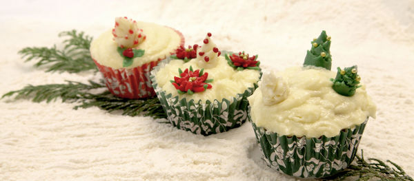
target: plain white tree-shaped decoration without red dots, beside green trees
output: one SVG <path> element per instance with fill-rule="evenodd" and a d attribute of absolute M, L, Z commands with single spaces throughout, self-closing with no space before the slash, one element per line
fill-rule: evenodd
<path fill-rule="evenodd" d="M 262 89 L 264 105 L 275 105 L 288 98 L 289 87 L 282 77 L 274 72 L 264 72 L 259 86 Z"/>

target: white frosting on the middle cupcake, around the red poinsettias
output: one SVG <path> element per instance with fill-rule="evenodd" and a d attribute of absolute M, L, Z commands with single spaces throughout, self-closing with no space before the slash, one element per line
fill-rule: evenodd
<path fill-rule="evenodd" d="M 172 60 L 166 64 L 165 67 L 161 67 L 160 70 L 155 74 L 155 79 L 158 86 L 161 87 L 167 94 L 172 96 L 179 96 L 179 98 L 194 99 L 196 102 L 202 100 L 213 101 L 215 99 L 221 101 L 226 98 L 233 101 L 233 97 L 237 94 L 242 94 L 248 87 L 253 87 L 254 83 L 259 81 L 259 71 L 257 70 L 243 70 L 237 71 L 228 65 L 226 58 L 219 56 L 217 58 L 217 66 L 205 67 L 204 72 L 208 72 L 208 78 L 213 78 L 214 81 L 210 83 L 213 87 L 206 89 L 204 92 L 197 92 L 193 95 L 189 94 L 178 94 L 177 89 L 170 83 L 170 80 L 174 80 L 174 76 L 178 75 L 178 68 L 186 70 L 190 65 L 193 70 L 200 69 L 196 58 L 191 59 L 187 63 L 182 60 Z"/>

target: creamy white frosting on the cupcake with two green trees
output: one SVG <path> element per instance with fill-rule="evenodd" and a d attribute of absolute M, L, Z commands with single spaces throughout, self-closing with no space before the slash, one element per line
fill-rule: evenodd
<path fill-rule="evenodd" d="M 366 94 L 365 86 L 359 87 L 354 96 L 337 94 L 330 81 L 335 72 L 317 67 L 291 67 L 277 72 L 277 76 L 286 80 L 289 89 L 286 100 L 265 105 L 268 88 L 262 87 L 264 83 L 248 98 L 250 116 L 258 127 L 287 136 L 332 137 L 341 129 L 363 123 L 367 116 L 375 118 L 376 106 Z"/>

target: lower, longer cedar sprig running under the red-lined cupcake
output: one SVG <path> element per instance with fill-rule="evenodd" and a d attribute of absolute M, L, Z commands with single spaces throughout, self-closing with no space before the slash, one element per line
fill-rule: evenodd
<path fill-rule="evenodd" d="M 46 85 L 27 85 L 23 89 L 11 91 L 4 94 L 1 98 L 16 95 L 14 99 L 26 98 L 35 103 L 61 98 L 62 102 L 80 103 L 74 107 L 88 108 L 99 107 L 108 112 L 122 111 L 123 115 L 128 116 L 152 116 L 154 118 L 166 118 L 157 98 L 147 99 L 128 99 L 118 98 L 105 91 L 101 93 L 92 93 L 94 89 L 106 87 L 103 80 L 100 83 L 89 81 L 88 83 L 79 83 L 75 81 L 66 81 L 66 84 L 46 84 Z"/>

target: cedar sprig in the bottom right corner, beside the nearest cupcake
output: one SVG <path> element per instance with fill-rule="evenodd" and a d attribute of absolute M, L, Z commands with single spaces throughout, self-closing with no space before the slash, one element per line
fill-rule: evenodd
<path fill-rule="evenodd" d="M 356 165 L 351 164 L 344 171 L 327 179 L 346 180 L 346 178 L 355 178 L 357 180 L 414 181 L 405 173 L 404 169 L 390 160 L 386 160 L 386 162 L 391 166 L 377 158 L 368 158 L 368 161 L 366 161 L 364 150 L 361 150 L 361 157 L 355 155 L 355 158 L 357 158 Z"/>

